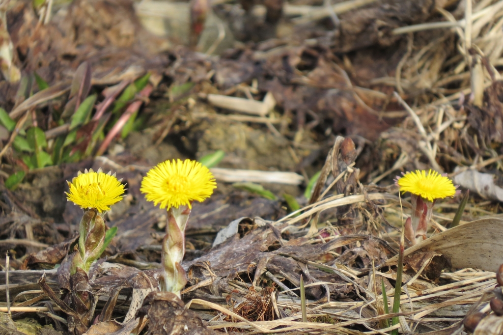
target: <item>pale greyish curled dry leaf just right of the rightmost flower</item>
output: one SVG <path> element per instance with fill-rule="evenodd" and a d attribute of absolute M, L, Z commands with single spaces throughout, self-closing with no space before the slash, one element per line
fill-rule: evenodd
<path fill-rule="evenodd" d="M 459 168 L 454 170 L 457 171 Z M 453 181 L 454 184 L 477 192 L 482 198 L 503 201 L 503 188 L 496 185 L 494 175 L 467 170 L 454 176 Z"/>

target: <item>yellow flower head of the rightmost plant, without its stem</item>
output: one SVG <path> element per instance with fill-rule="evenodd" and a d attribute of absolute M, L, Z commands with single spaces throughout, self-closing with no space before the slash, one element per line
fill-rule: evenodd
<path fill-rule="evenodd" d="M 407 172 L 397 183 L 402 192 L 410 192 L 429 201 L 456 194 L 452 181 L 431 169 L 428 174 L 424 170 Z"/>

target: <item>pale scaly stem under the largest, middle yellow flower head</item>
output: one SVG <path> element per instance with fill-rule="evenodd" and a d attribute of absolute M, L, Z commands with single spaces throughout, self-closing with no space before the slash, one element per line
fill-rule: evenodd
<path fill-rule="evenodd" d="M 182 261 L 185 255 L 185 227 L 191 209 L 182 205 L 167 211 L 166 235 L 162 239 L 163 275 L 161 291 L 173 292 L 180 297 L 180 291 L 187 284 Z"/>

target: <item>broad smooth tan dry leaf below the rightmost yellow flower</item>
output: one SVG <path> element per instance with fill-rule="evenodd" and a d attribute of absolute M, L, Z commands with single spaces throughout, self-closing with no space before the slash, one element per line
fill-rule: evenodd
<path fill-rule="evenodd" d="M 406 249 L 404 257 L 425 252 L 442 254 L 452 268 L 496 272 L 503 263 L 503 219 L 481 219 L 443 231 Z M 397 260 L 395 256 L 385 264 Z"/>

